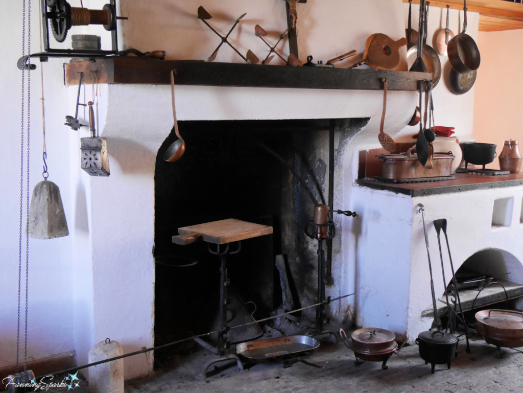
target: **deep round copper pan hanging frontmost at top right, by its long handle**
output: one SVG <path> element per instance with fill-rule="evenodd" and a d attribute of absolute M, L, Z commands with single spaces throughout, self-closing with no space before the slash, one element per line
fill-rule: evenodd
<path fill-rule="evenodd" d="M 465 33 L 467 31 L 467 0 L 463 0 L 463 31 L 449 40 L 447 52 L 450 64 L 459 73 L 480 68 L 481 56 L 474 39 Z"/>

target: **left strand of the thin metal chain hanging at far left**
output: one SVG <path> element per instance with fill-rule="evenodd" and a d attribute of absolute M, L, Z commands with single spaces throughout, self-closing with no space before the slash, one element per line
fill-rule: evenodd
<path fill-rule="evenodd" d="M 22 56 L 26 49 L 26 1 L 22 3 Z M 24 212 L 24 86 L 25 67 L 22 68 L 22 102 L 21 102 L 21 151 L 20 151 L 20 227 L 18 234 L 18 323 L 16 327 L 16 372 L 18 373 L 18 362 L 20 354 L 20 288 L 22 276 L 22 216 Z"/>

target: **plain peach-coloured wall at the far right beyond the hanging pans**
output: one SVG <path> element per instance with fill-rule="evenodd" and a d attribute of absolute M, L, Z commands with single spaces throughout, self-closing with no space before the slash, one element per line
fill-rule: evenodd
<path fill-rule="evenodd" d="M 523 143 L 522 40 L 523 30 L 480 32 L 477 38 L 481 66 L 475 84 L 473 134 L 477 142 L 496 143 L 497 154 L 507 139 Z M 499 161 L 489 167 L 499 168 Z"/>

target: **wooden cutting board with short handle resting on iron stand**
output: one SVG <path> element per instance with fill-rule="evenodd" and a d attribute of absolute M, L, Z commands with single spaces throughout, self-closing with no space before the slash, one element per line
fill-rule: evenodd
<path fill-rule="evenodd" d="M 173 243 L 186 245 L 203 240 L 208 243 L 226 244 L 270 234 L 272 227 L 228 218 L 178 228 L 178 233 L 179 235 L 173 236 Z"/>

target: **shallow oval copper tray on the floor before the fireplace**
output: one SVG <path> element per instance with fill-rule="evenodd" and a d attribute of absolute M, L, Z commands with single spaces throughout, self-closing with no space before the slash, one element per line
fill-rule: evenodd
<path fill-rule="evenodd" d="M 319 346 L 320 342 L 308 335 L 289 335 L 238 344 L 236 354 L 258 363 L 289 355 L 310 355 Z"/>

